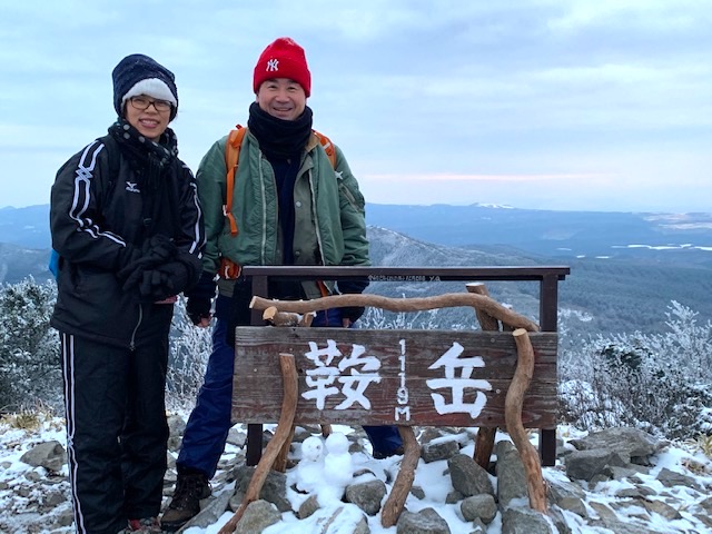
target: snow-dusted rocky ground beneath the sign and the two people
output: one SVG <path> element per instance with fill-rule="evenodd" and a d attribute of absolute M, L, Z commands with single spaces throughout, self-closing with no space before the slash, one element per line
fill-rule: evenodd
<path fill-rule="evenodd" d="M 40 418 L 20 428 L 0 424 L 0 532 L 73 531 L 61 421 Z M 170 418 L 169 469 L 165 496 L 172 493 L 175 457 L 184 418 Z M 299 442 L 316 428 L 298 428 L 290 468 L 271 473 L 260 501 L 248 507 L 237 532 L 284 533 L 708 533 L 712 532 L 712 461 L 692 444 L 671 444 L 633 428 L 589 435 L 560 428 L 556 466 L 544 467 L 548 514 L 528 506 L 524 468 L 506 434 L 497 435 L 490 469 L 473 459 L 476 428 L 419 428 L 422 445 L 413 491 L 398 524 L 380 526 L 382 504 L 399 457 L 373 459 L 365 435 L 348 433 L 355 466 L 339 506 L 296 491 L 294 465 Z M 266 432 L 266 438 L 269 438 Z M 237 510 L 253 468 L 245 465 L 245 432 L 230 432 L 212 496 L 188 534 L 217 532 Z M 708 452 L 709 453 L 709 452 Z M 271 526 L 270 526 L 271 525 Z"/>

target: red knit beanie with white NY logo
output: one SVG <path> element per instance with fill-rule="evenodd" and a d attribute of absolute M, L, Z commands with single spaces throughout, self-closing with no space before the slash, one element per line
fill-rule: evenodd
<path fill-rule="evenodd" d="M 301 86 L 307 97 L 312 93 L 312 73 L 304 48 L 288 37 L 280 37 L 268 44 L 257 60 L 253 82 L 255 95 L 263 81 L 271 78 L 289 78 Z"/>

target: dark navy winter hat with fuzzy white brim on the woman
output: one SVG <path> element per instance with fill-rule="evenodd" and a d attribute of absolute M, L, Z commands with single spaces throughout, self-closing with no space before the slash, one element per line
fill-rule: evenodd
<path fill-rule="evenodd" d="M 123 105 L 131 97 L 147 95 L 172 103 L 170 120 L 178 112 L 176 77 L 162 65 L 142 53 L 127 56 L 111 72 L 113 79 L 113 108 L 119 117 Z"/>

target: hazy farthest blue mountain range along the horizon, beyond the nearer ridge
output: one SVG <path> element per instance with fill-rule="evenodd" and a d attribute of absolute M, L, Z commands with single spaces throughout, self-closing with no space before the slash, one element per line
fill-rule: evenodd
<path fill-rule="evenodd" d="M 448 246 L 496 246 L 551 258 L 636 257 L 712 265 L 712 212 L 552 211 L 507 206 L 369 204 L 366 220 Z M 49 248 L 49 205 L 0 208 L 0 243 Z"/>

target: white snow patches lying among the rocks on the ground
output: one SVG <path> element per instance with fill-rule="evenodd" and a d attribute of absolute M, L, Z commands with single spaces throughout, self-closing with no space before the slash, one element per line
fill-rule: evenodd
<path fill-rule="evenodd" d="M 350 432 L 350 428 L 343 426 L 335 426 L 336 432 Z M 560 426 L 558 435 L 564 441 L 564 446 L 572 438 L 583 437 L 585 434 L 576 432 L 570 427 Z M 500 436 L 500 435 L 498 435 Z M 501 437 L 506 437 L 505 435 Z M 55 527 L 48 530 L 42 527 L 42 517 L 39 517 L 37 510 L 39 503 L 47 504 L 48 502 L 56 503 L 56 510 L 60 511 L 62 507 L 68 508 L 69 504 L 66 498 L 57 496 L 58 492 L 63 493 L 65 497 L 68 492 L 67 466 L 55 477 L 48 478 L 48 472 L 42 467 L 31 468 L 29 465 L 20 461 L 20 457 L 32 446 L 56 439 L 62 445 L 66 443 L 65 429 L 62 421 L 56 417 L 48 417 L 40 421 L 40 425 L 37 428 L 18 429 L 8 423 L 8 419 L 0 422 L 0 532 L 23 534 L 23 533 L 55 533 L 66 534 L 73 532 L 72 525 L 63 527 Z M 463 454 L 472 455 L 474 445 L 472 441 L 461 451 Z M 231 456 L 237 452 L 236 447 L 229 446 L 226 451 L 226 456 Z M 352 455 L 353 468 L 358 472 L 362 468 L 369 468 L 373 473 L 383 473 L 383 476 L 387 476 L 389 473 L 392 476 L 397 474 L 398 457 L 386 459 L 374 459 L 367 454 L 356 453 Z M 662 468 L 669 468 L 679 473 L 683 473 L 686 476 L 693 477 L 701 487 L 712 485 L 712 462 L 705 457 L 702 452 L 694 451 L 684 444 L 671 444 L 665 447 L 661 453 L 653 457 L 654 467 L 646 475 L 640 475 L 644 479 L 645 484 L 656 491 L 663 491 L 660 482 L 655 479 L 656 474 Z M 696 467 L 695 467 L 696 466 Z M 703 468 L 700 468 L 702 466 Z M 472 523 L 465 522 L 459 513 L 459 504 L 443 504 L 445 496 L 451 492 L 452 485 L 449 477 L 443 476 L 443 471 L 447 465 L 445 461 L 433 462 L 429 464 L 421 461 L 417 472 L 415 484 L 421 486 L 425 492 L 425 498 L 418 500 L 413 495 L 408 496 L 406 507 L 412 512 L 417 512 L 426 507 L 433 507 L 437 513 L 447 521 L 451 531 L 453 533 L 466 533 L 472 531 Z M 690 468 L 692 467 L 692 468 Z M 544 477 L 548 481 L 567 481 L 563 467 L 557 464 L 555 467 L 544 467 Z M 288 472 L 288 483 L 297 482 L 297 469 Z M 53 479 L 52 479 L 53 478 Z M 65 478 L 65 479 L 62 479 Z M 48 482 L 49 481 L 49 482 Z M 494 482 L 494 479 L 493 479 Z M 22 484 L 23 491 L 18 492 L 17 485 Z M 586 491 L 586 506 L 591 502 L 611 504 L 616 501 L 616 492 L 629 485 L 627 482 L 609 481 L 599 483 L 592 491 Z M 59 491 L 58 488 L 61 488 Z M 228 485 L 222 491 L 231 491 L 234 484 Z M 52 497 L 52 494 L 55 496 Z M 298 505 L 306 498 L 304 495 L 289 491 L 288 498 L 298 508 Z M 52 497 L 52 500 L 50 500 Z M 704 527 L 700 528 L 700 522 L 693 521 L 685 511 L 686 508 L 695 504 L 694 497 L 691 492 L 684 490 L 678 491 L 675 494 L 676 502 L 673 504 L 675 508 L 680 511 L 682 518 L 680 520 L 664 520 L 662 516 L 652 514 L 652 523 L 649 525 L 654 532 L 660 533 L 699 533 L 709 532 Z M 338 507 L 343 511 L 337 516 L 338 524 L 334 524 L 329 532 L 353 532 L 353 528 L 363 517 L 363 513 L 353 504 L 347 503 L 334 503 L 317 511 L 314 515 L 307 520 L 297 521 L 291 513 L 283 514 L 283 521 L 276 525 L 265 530 L 265 534 L 313 534 L 314 532 L 320 532 L 324 524 L 334 515 Z M 612 510 L 616 510 L 612 506 Z M 53 513 L 55 511 L 52 511 Z M 631 507 L 617 507 L 616 512 L 621 522 L 627 522 L 629 520 L 641 514 L 641 510 Z M 577 515 L 563 512 L 564 517 L 571 528 L 572 533 L 610 533 L 611 531 L 593 527 L 585 524 L 584 520 Z M 593 508 L 591 514 L 596 515 Z M 207 528 L 192 527 L 186 531 L 187 534 L 214 534 L 231 517 L 231 513 L 225 513 L 218 520 L 217 523 L 208 526 Z M 379 523 L 379 515 L 375 517 L 368 517 L 368 526 L 372 534 L 395 534 L 396 527 L 384 528 Z M 342 531 L 343 528 L 343 531 Z M 501 534 L 501 514 L 497 514 L 493 523 L 487 525 L 488 534 Z"/>

